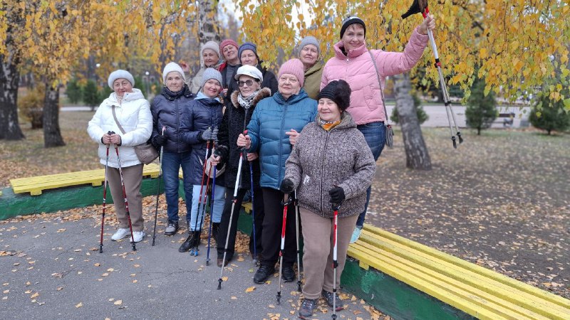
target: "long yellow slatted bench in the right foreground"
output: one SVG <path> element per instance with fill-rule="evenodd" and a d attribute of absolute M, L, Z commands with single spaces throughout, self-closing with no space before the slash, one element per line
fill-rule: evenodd
<path fill-rule="evenodd" d="M 478 319 L 570 319 L 570 300 L 365 225 L 348 255 Z"/>

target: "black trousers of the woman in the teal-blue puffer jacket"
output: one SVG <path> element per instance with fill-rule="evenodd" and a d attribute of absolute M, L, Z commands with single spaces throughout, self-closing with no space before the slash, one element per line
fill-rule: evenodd
<path fill-rule="evenodd" d="M 263 219 L 263 252 L 261 252 L 261 265 L 274 266 L 279 260 L 281 248 L 281 228 L 283 226 L 283 193 L 273 188 L 261 188 L 265 206 Z M 283 265 L 291 267 L 296 260 L 297 242 L 295 228 L 295 206 L 291 203 L 287 207 L 287 220 L 285 229 L 285 249 L 283 252 Z"/>

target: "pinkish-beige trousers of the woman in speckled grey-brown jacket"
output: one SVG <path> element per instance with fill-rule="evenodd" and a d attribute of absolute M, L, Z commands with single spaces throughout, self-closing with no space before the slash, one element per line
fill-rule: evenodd
<path fill-rule="evenodd" d="M 323 218 L 316 213 L 300 208 L 303 227 L 304 249 L 303 268 L 305 285 L 303 294 L 306 299 L 318 299 L 321 290 L 333 292 L 333 218 Z M 338 218 L 337 223 L 337 261 L 336 287 L 341 284 L 341 274 L 346 262 L 346 251 L 358 215 Z"/>

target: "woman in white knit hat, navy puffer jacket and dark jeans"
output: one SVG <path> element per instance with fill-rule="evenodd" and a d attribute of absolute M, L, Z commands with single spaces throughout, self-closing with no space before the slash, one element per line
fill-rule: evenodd
<path fill-rule="evenodd" d="M 181 137 L 180 121 L 185 110 L 190 108 L 194 95 L 185 85 L 185 76 L 180 65 L 168 63 L 162 71 L 165 87 L 160 95 L 152 100 L 152 144 L 157 149 L 164 146 L 162 154 L 162 177 L 165 181 L 168 223 L 165 235 L 174 235 L 178 230 L 178 171 L 182 166 L 184 176 L 184 193 L 186 201 L 186 220 L 190 220 L 190 203 L 192 203 L 192 164 L 190 151 L 192 147 Z M 165 134 L 162 135 L 162 128 Z"/>

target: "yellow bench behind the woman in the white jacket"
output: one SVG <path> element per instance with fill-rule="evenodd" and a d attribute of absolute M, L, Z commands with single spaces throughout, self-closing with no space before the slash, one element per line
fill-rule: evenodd
<path fill-rule="evenodd" d="M 158 169 L 157 164 L 148 164 L 142 169 L 142 176 L 156 178 L 158 176 Z M 182 178 L 182 173 L 180 173 L 179 176 Z M 105 169 L 97 169 L 11 179 L 10 184 L 14 193 L 29 192 L 32 196 L 38 196 L 41 195 L 43 190 L 66 186 L 81 186 L 83 184 L 100 186 L 103 184 L 103 181 L 105 181 Z"/>

